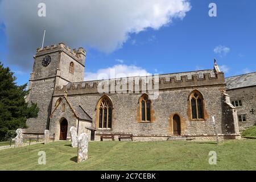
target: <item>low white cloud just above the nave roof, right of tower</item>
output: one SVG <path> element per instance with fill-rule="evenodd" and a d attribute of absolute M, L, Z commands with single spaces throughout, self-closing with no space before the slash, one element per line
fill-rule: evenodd
<path fill-rule="evenodd" d="M 99 69 L 97 72 L 85 73 L 84 80 L 102 80 L 109 78 L 121 78 L 131 76 L 148 76 L 146 69 L 136 67 L 135 65 L 117 64 L 110 68 Z"/>

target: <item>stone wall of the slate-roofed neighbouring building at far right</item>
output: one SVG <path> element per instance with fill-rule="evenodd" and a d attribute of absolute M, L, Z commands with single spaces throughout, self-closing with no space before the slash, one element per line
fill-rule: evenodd
<path fill-rule="evenodd" d="M 237 114 L 246 114 L 246 122 L 238 122 L 240 129 L 256 124 L 256 112 L 250 113 L 251 109 L 256 110 L 256 86 L 227 90 L 231 101 L 242 101 L 242 106 L 238 106 Z"/>

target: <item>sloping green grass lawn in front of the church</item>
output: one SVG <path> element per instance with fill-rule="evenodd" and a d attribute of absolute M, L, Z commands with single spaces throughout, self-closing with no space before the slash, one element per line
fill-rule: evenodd
<path fill-rule="evenodd" d="M 38 152 L 46 152 L 46 165 Z M 217 164 L 208 163 L 209 151 Z M 0 151 L 0 170 L 256 170 L 256 140 L 213 142 L 89 142 L 88 160 L 77 164 L 71 142 Z"/>

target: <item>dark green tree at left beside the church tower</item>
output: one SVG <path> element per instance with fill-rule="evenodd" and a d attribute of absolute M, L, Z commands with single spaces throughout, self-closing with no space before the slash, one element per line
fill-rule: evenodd
<path fill-rule="evenodd" d="M 27 118 L 38 116 L 39 107 L 25 101 L 27 84 L 19 86 L 15 80 L 14 73 L 0 61 L 0 140 L 6 139 L 11 130 L 26 128 Z"/>

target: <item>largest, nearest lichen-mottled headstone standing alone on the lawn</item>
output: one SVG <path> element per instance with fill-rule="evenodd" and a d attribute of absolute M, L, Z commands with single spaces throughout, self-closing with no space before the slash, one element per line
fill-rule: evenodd
<path fill-rule="evenodd" d="M 88 159 L 88 136 L 86 133 L 82 133 L 78 139 L 77 163 L 86 159 Z"/>

